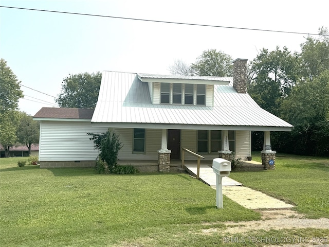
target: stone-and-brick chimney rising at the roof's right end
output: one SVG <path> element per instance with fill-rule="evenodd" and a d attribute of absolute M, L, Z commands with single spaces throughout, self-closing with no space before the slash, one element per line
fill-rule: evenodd
<path fill-rule="evenodd" d="M 247 93 L 247 61 L 237 58 L 233 61 L 233 87 L 237 93 Z"/>

